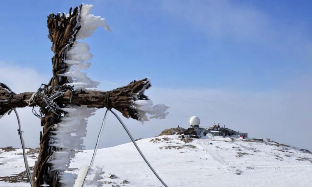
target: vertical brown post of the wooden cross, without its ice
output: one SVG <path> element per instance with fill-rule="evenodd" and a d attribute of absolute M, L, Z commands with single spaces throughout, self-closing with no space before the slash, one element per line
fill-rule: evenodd
<path fill-rule="evenodd" d="M 50 14 L 47 19 L 47 27 L 49 30 L 49 39 L 52 42 L 51 50 L 54 53 L 52 57 L 52 71 L 53 77 L 49 81 L 48 86 L 55 87 L 58 85 L 64 85 L 72 82 L 70 78 L 60 76 L 59 74 L 65 73 L 70 69 L 64 60 L 66 60 L 66 52 L 71 50 L 71 47 L 76 40 L 76 34 L 80 30 L 81 26 L 78 23 L 80 20 L 80 12 L 82 5 L 69 10 L 69 16 L 65 13 Z M 60 100 L 56 101 L 59 107 L 62 107 Z M 41 105 L 42 106 L 42 105 Z M 42 110 L 42 107 L 41 107 Z M 51 128 L 54 124 L 61 122 L 61 117 L 53 113 L 49 108 L 43 111 L 44 117 L 41 117 L 41 126 L 43 126 L 42 136 L 40 140 L 40 152 L 38 160 L 34 166 L 34 172 L 32 175 L 33 187 L 47 184 L 50 187 L 61 187 L 59 182 L 59 171 L 51 170 L 52 164 L 48 164 L 47 161 L 55 151 L 59 151 L 59 148 L 50 146 Z M 36 179 L 36 180 L 35 180 Z"/>

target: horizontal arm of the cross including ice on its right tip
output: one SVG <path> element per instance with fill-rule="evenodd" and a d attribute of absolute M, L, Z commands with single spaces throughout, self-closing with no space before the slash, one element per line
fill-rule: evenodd
<path fill-rule="evenodd" d="M 133 118 L 139 121 L 146 121 L 149 118 L 163 118 L 168 112 L 165 111 L 168 106 L 153 106 L 145 90 L 151 87 L 149 79 L 132 81 L 128 85 L 121 86 L 111 91 L 90 91 L 90 90 L 67 90 L 57 98 L 57 104 L 60 108 L 67 105 L 86 105 L 88 108 L 114 108 L 126 118 Z M 53 96 L 58 91 L 58 87 L 54 89 L 43 88 L 40 92 L 47 96 Z M 56 89 L 56 90 L 55 90 Z M 5 89 L 0 88 L 0 115 L 8 112 L 11 107 L 42 107 L 44 101 L 40 97 L 32 97 L 34 93 L 24 92 L 15 94 L 12 97 Z M 38 95 L 38 94 L 37 94 Z M 4 100 L 6 102 L 1 102 Z M 7 101 L 10 100 L 8 103 Z M 44 108 L 42 109 L 44 110 Z M 46 118 L 48 120 L 48 118 Z M 50 122 L 50 121 L 49 121 Z M 57 121 L 58 123 L 60 121 Z M 49 123 L 45 128 L 49 128 Z M 54 124 L 54 123 L 53 123 Z M 47 139 L 48 141 L 48 139 Z"/>

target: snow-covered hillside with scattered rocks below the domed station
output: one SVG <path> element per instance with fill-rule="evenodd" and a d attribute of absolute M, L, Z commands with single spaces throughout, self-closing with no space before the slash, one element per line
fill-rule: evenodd
<path fill-rule="evenodd" d="M 165 135 L 136 142 L 170 187 L 312 186 L 312 154 L 304 149 L 230 137 L 181 141 L 178 135 Z M 37 150 L 27 151 L 33 166 Z M 78 151 L 69 172 L 79 173 L 82 165 L 88 165 L 92 151 Z M 0 186 L 30 186 L 22 173 L 21 153 L 21 149 L 0 149 Z M 99 149 L 94 166 L 105 171 L 103 186 L 162 186 L 133 143 Z"/>

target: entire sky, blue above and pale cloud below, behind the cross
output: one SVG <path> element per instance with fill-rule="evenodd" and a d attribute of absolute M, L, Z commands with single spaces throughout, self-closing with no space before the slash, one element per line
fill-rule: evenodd
<path fill-rule="evenodd" d="M 53 54 L 46 17 L 51 12 L 67 13 L 80 3 L 3 1 L 0 82 L 16 92 L 35 91 L 47 83 Z M 134 137 L 152 137 L 178 124 L 188 127 L 189 117 L 198 115 L 204 126 L 220 122 L 251 137 L 271 137 L 312 150 L 308 131 L 289 139 L 294 125 L 307 128 L 312 122 L 311 1 L 84 3 L 93 4 L 91 13 L 106 18 L 112 30 L 99 28 L 84 40 L 94 55 L 87 75 L 100 81 L 103 90 L 149 77 L 153 87 L 148 95 L 155 103 L 171 106 L 165 120 L 151 120 L 144 126 L 125 120 Z M 99 111 L 90 117 L 91 124 L 100 124 L 103 111 Z M 41 127 L 30 114 L 31 109 L 21 109 L 21 119 L 29 127 L 25 141 L 37 146 L 32 133 L 39 133 Z M 2 121 L 15 123 L 12 117 Z M 119 125 L 110 117 L 108 123 Z M 15 127 L 3 128 L 0 137 L 16 133 Z M 92 148 L 98 126 L 88 128 L 85 142 Z M 103 138 L 100 146 L 129 141 L 112 137 L 112 132 L 122 131 L 119 127 L 106 128 L 103 136 L 110 138 Z M 14 141 L 7 138 L 0 147 Z"/>

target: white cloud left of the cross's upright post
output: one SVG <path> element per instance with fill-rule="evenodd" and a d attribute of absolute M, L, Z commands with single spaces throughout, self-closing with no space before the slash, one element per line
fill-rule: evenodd
<path fill-rule="evenodd" d="M 0 82 L 9 86 L 13 92 L 34 92 L 41 83 L 47 83 L 49 77 L 45 74 L 38 74 L 36 70 L 27 67 L 19 67 L 12 63 L 0 61 Z M 18 108 L 17 112 L 21 119 L 23 137 L 25 146 L 39 146 L 40 119 L 35 117 L 31 111 L 32 108 Z M 0 120 L 0 147 L 16 146 L 20 147 L 20 140 L 17 133 L 17 119 L 14 112 Z"/>

